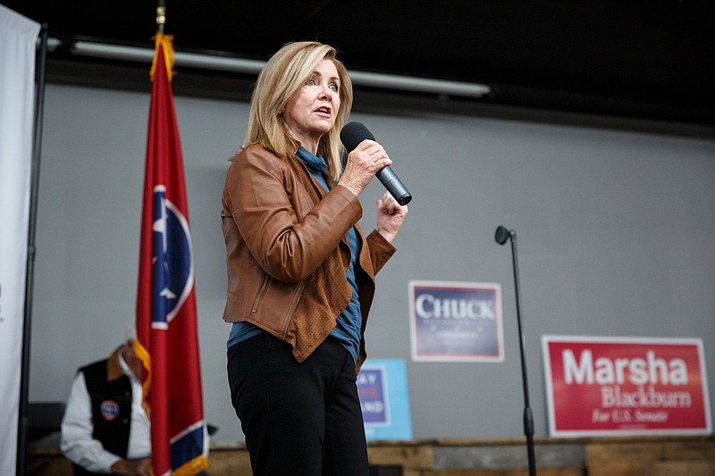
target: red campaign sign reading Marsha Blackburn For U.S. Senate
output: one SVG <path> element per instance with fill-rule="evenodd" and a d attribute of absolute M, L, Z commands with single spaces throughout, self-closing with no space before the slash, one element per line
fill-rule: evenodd
<path fill-rule="evenodd" d="M 557 437 L 710 434 L 702 339 L 543 336 Z"/>

